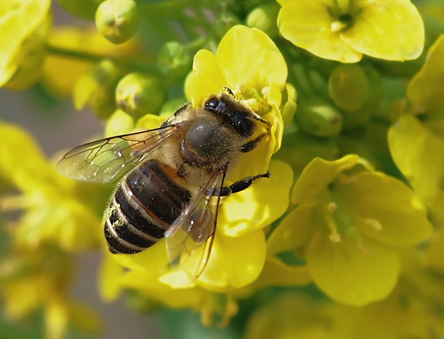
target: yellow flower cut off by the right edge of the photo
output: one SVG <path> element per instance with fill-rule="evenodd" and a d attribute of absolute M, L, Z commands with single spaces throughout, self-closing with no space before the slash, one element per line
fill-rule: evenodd
<path fill-rule="evenodd" d="M 441 35 L 429 49 L 424 67 L 407 87 L 411 108 L 388 131 L 393 161 L 427 207 L 442 206 L 443 202 L 437 200 L 444 182 L 443 58 Z"/>

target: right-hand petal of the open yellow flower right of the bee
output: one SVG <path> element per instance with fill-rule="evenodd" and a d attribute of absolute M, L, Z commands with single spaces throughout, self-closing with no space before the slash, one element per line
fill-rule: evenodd
<path fill-rule="evenodd" d="M 416 245 L 432 234 L 427 210 L 400 180 L 364 172 L 335 186 L 353 227 L 387 245 Z"/>

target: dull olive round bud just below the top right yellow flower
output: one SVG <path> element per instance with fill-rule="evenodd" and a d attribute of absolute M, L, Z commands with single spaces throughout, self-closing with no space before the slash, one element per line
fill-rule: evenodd
<path fill-rule="evenodd" d="M 344 111 L 354 111 L 364 104 L 370 85 L 359 64 L 340 64 L 328 80 L 330 98 Z"/>

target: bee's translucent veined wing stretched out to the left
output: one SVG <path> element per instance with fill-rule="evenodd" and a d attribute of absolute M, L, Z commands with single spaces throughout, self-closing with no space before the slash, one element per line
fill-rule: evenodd
<path fill-rule="evenodd" d="M 168 125 L 92 141 L 70 150 L 60 159 L 57 169 L 75 180 L 114 182 L 173 137 L 177 129 L 178 125 Z"/>

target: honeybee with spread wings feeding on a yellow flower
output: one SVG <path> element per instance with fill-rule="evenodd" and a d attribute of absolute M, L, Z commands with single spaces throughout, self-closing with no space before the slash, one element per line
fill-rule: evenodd
<path fill-rule="evenodd" d="M 92 141 L 58 162 L 58 171 L 72 179 L 120 180 L 104 217 L 110 252 L 134 254 L 165 237 L 171 265 L 196 257 L 191 274 L 203 272 L 221 197 L 270 176 L 267 171 L 224 186 L 230 165 L 270 130 L 268 121 L 225 89 L 203 107 L 186 103 L 160 128 Z"/>

